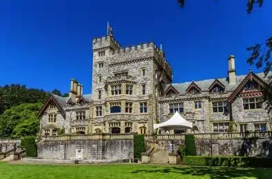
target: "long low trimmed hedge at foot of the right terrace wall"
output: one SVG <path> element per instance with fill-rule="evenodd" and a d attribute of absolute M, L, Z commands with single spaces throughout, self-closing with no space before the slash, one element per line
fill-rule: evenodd
<path fill-rule="evenodd" d="M 247 156 L 184 156 L 183 165 L 228 166 L 228 167 L 272 167 L 272 158 Z"/>

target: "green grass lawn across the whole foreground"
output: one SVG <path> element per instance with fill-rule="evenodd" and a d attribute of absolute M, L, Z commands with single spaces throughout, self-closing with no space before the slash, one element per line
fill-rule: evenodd
<path fill-rule="evenodd" d="M 178 167 L 152 165 L 12 165 L 0 163 L 1 179 L 271 179 L 272 169 L 234 169 L 227 167 Z"/>

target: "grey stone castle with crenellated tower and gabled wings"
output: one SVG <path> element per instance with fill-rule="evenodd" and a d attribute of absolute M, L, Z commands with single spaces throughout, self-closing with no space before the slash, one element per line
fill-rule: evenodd
<path fill-rule="evenodd" d="M 173 84 L 165 53 L 152 42 L 122 48 L 113 36 L 103 36 L 92 48 L 92 94 L 83 95 L 74 79 L 69 97 L 52 94 L 39 112 L 42 136 L 151 134 L 154 123 L 176 111 L 193 128 L 172 134 L 270 130 L 261 102 L 264 74 L 237 76 L 234 56 L 227 77 Z"/>

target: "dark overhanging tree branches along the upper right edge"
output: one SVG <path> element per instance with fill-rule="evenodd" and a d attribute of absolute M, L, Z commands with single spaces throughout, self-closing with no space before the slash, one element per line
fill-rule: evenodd
<path fill-rule="evenodd" d="M 178 0 L 180 8 L 183 8 L 186 0 Z M 218 1 L 218 0 L 216 0 Z M 247 0 L 247 13 L 250 14 L 254 5 L 262 7 L 264 0 Z M 247 63 L 260 69 L 264 68 L 264 76 L 267 77 L 266 83 L 268 84 L 264 88 L 263 102 L 266 103 L 266 110 L 271 113 L 272 110 L 272 75 L 269 72 L 272 71 L 272 36 L 266 39 L 265 43 L 256 44 L 247 48 L 247 51 L 251 51 L 251 56 L 247 59 Z"/>

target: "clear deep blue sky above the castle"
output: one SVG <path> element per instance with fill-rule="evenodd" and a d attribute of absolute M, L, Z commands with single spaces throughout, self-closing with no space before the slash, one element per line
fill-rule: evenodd
<path fill-rule="evenodd" d="M 238 75 L 261 69 L 246 63 L 246 48 L 272 34 L 272 1 L 246 12 L 247 0 L 47 0 L 0 2 L 0 85 L 67 93 L 70 79 L 92 90 L 92 38 L 107 21 L 121 45 L 163 44 L 174 83 L 226 77 L 227 57 Z"/>

